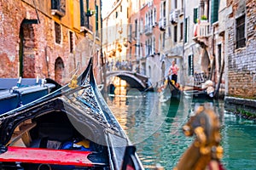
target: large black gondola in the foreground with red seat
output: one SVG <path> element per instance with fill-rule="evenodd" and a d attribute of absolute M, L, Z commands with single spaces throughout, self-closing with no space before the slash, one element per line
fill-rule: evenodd
<path fill-rule="evenodd" d="M 0 116 L 1 169 L 143 169 L 86 70 L 55 92 Z"/>

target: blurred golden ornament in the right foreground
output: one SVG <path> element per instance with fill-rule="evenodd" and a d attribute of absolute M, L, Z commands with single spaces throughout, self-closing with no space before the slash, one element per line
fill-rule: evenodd
<path fill-rule="evenodd" d="M 199 106 L 195 115 L 190 116 L 189 122 L 183 126 L 183 133 L 186 136 L 195 135 L 195 140 L 185 150 L 174 169 L 224 170 L 220 162 L 223 148 L 219 145 L 219 127 L 216 113 L 205 106 Z"/>

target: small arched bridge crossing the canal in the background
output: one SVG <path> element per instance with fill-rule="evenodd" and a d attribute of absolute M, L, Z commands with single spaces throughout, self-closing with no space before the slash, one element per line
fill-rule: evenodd
<path fill-rule="evenodd" d="M 148 88 L 148 77 L 134 71 L 107 71 L 106 77 L 107 80 L 111 77 L 119 77 L 125 80 L 131 88 L 137 88 L 139 90 Z"/>

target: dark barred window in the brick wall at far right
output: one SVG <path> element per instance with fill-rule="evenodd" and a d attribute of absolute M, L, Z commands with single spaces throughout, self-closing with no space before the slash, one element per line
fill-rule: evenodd
<path fill-rule="evenodd" d="M 245 47 L 245 15 L 236 19 L 236 48 Z"/>

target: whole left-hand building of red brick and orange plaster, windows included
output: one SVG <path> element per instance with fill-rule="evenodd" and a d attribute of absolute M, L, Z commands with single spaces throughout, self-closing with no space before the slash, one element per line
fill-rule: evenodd
<path fill-rule="evenodd" d="M 66 83 L 91 55 L 99 63 L 100 28 L 100 0 L 0 0 L 0 77 Z"/>

